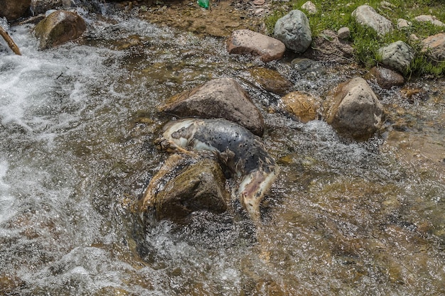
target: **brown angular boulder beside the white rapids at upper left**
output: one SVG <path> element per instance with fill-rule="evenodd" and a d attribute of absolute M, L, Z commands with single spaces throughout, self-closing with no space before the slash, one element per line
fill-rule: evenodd
<path fill-rule="evenodd" d="M 83 18 L 71 11 L 55 11 L 37 24 L 36 37 L 45 50 L 75 40 L 87 29 Z"/>

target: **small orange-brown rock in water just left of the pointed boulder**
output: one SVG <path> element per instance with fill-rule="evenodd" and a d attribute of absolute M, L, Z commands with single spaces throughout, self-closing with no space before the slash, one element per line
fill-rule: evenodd
<path fill-rule="evenodd" d="M 286 106 L 286 111 L 297 116 L 301 122 L 306 124 L 308 121 L 318 118 L 320 104 L 310 94 L 290 92 L 282 97 L 282 100 Z"/>

